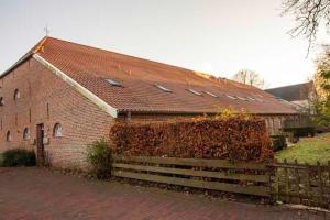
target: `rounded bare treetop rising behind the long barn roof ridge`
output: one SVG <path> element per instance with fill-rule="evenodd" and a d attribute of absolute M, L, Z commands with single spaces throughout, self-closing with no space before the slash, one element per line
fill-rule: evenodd
<path fill-rule="evenodd" d="M 239 70 L 233 77 L 233 80 L 242 82 L 242 84 L 248 84 L 250 86 L 258 87 L 258 88 L 264 88 L 265 86 L 265 80 L 261 78 L 261 76 L 250 69 L 241 69 Z"/>

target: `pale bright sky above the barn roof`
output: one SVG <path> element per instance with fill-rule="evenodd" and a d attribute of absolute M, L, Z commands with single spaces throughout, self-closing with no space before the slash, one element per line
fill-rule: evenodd
<path fill-rule="evenodd" d="M 218 77 L 305 82 L 318 50 L 287 32 L 282 0 L 0 0 L 0 73 L 50 35 Z M 327 42 L 327 34 L 317 44 Z"/>

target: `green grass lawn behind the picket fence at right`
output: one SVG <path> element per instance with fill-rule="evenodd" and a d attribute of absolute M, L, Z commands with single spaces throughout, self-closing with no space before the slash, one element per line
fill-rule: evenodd
<path fill-rule="evenodd" d="M 278 161 L 286 158 L 288 162 L 328 164 L 330 161 L 330 133 L 318 134 L 315 138 L 302 138 L 300 141 L 275 154 Z"/>

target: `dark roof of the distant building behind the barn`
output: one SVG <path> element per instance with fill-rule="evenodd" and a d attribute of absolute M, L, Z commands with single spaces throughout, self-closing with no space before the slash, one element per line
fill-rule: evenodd
<path fill-rule="evenodd" d="M 312 81 L 266 89 L 265 91 L 287 101 L 307 100 L 312 91 Z"/>

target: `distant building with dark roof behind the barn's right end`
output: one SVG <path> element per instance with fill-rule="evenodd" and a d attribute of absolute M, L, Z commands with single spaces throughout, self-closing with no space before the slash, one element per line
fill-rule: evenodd
<path fill-rule="evenodd" d="M 312 112 L 311 101 L 316 97 L 312 81 L 266 89 L 265 91 L 278 99 L 290 102 L 300 112 Z"/>

